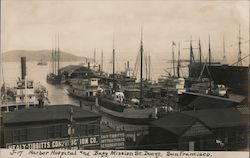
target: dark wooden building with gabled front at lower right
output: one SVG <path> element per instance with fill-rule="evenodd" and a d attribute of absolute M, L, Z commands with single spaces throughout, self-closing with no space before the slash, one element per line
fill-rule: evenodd
<path fill-rule="evenodd" d="M 152 122 L 146 143 L 157 150 L 242 150 L 248 117 L 236 108 L 169 113 Z"/>

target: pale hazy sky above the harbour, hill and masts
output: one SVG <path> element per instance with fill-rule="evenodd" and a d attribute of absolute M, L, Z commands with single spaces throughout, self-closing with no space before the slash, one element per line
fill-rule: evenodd
<path fill-rule="evenodd" d="M 237 58 L 239 25 L 249 40 L 249 1 L 167 0 L 1 0 L 1 51 L 51 49 L 60 35 L 60 49 L 79 56 L 111 59 L 113 39 L 118 60 L 134 60 L 139 51 L 141 26 L 145 52 L 154 59 L 171 59 L 172 41 L 181 44 L 188 59 L 188 40 L 200 38 L 207 57 L 221 59 L 225 38 L 227 58 Z M 231 46 L 232 45 L 232 46 Z M 175 48 L 177 51 L 177 48 Z M 196 51 L 196 50 L 195 50 Z M 242 44 L 242 56 L 249 42 Z M 197 52 L 195 52 L 197 55 Z"/>

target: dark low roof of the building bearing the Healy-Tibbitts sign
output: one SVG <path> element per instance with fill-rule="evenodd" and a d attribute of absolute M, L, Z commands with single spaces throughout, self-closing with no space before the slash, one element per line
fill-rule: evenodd
<path fill-rule="evenodd" d="M 37 121 L 68 120 L 73 108 L 73 119 L 101 117 L 74 105 L 50 105 L 44 108 L 31 107 L 3 114 L 3 123 L 24 123 Z"/>

